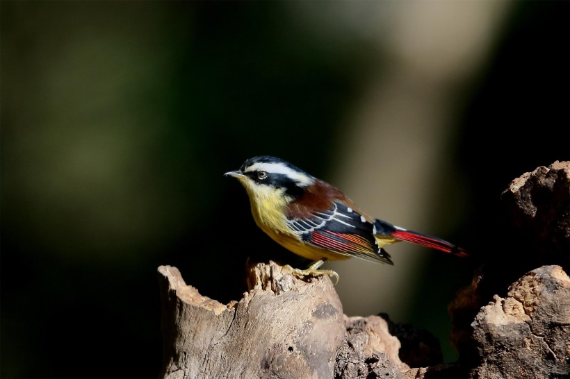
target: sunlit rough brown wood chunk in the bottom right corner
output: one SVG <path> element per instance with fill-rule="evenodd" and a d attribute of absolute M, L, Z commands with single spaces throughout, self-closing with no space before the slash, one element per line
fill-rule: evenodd
<path fill-rule="evenodd" d="M 473 378 L 570 377 L 570 278 L 560 266 L 530 271 L 482 308 Z"/>

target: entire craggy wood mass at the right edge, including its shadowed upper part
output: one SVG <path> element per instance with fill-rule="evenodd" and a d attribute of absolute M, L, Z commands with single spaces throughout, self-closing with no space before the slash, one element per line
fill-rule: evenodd
<path fill-rule="evenodd" d="M 570 162 L 515 178 L 500 198 L 512 231 L 494 233 L 509 239 L 481 254 L 449 308 L 459 362 L 471 378 L 570 378 Z"/>

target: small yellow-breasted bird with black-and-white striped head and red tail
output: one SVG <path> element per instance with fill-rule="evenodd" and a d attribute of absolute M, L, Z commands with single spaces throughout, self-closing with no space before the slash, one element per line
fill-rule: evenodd
<path fill-rule="evenodd" d="M 384 246 L 406 241 L 428 248 L 467 256 L 464 249 L 438 237 L 407 230 L 371 217 L 340 189 L 281 158 L 259 155 L 243 162 L 225 176 L 237 178 L 250 199 L 255 223 L 275 242 L 311 260 L 307 269 L 293 269 L 300 276 L 339 275 L 319 269 L 327 260 L 351 257 L 393 265 Z"/>

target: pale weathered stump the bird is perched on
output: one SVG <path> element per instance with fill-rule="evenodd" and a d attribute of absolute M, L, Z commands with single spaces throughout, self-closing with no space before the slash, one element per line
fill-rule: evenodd
<path fill-rule="evenodd" d="M 328 277 L 300 280 L 258 264 L 252 289 L 223 305 L 163 276 L 163 378 L 332 378 L 344 335 L 339 297 Z"/>

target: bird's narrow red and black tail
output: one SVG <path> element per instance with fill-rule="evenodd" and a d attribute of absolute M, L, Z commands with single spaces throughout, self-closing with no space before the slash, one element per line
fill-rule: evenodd
<path fill-rule="evenodd" d="M 401 239 L 402 241 L 412 242 L 413 244 L 443 251 L 444 253 L 451 253 L 459 257 L 466 257 L 468 255 L 462 248 L 444 241 L 441 238 L 400 228 L 386 221 L 376 219 L 374 226 L 376 228 L 376 234 L 378 235 L 389 235 L 390 237 Z"/>

